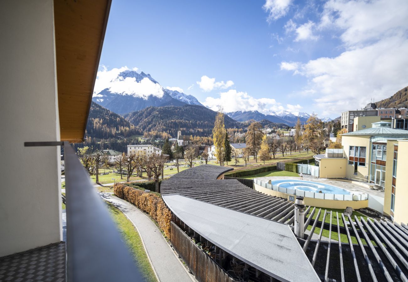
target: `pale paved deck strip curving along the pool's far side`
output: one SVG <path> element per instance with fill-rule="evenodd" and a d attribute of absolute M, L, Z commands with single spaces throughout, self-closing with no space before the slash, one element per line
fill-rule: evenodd
<path fill-rule="evenodd" d="M 255 179 L 255 178 L 254 178 Z M 269 181 L 269 180 L 279 180 L 279 179 L 294 179 L 294 180 L 300 180 L 300 177 L 295 177 L 295 176 L 264 176 L 264 177 L 256 177 L 256 179 L 259 179 L 260 181 Z M 384 198 L 384 192 L 378 191 L 378 190 L 372 190 L 365 185 L 358 185 L 355 183 L 350 183 L 346 181 L 339 181 L 339 180 L 332 180 L 332 179 L 326 179 L 326 178 L 313 178 L 313 176 L 310 175 L 304 175 L 303 180 L 308 180 L 308 181 L 314 181 L 314 182 L 320 182 L 324 184 L 330 184 L 333 186 L 337 186 L 339 188 L 344 188 L 348 191 L 352 192 L 363 192 L 372 196 L 377 196 Z"/>

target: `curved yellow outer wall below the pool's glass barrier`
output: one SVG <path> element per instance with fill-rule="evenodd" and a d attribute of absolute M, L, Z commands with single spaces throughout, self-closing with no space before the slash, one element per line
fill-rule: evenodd
<path fill-rule="evenodd" d="M 274 191 L 271 189 L 267 189 L 260 185 L 254 183 L 255 190 L 262 192 L 267 195 L 277 196 L 281 198 L 285 198 L 289 200 L 289 196 L 294 196 L 278 191 Z M 361 201 L 343 201 L 343 200 L 325 200 L 325 199 L 315 199 L 315 198 L 308 198 L 304 197 L 304 203 L 307 206 L 312 207 L 324 207 L 328 209 L 346 209 L 346 207 L 352 207 L 353 209 L 361 209 L 363 207 L 368 207 L 368 200 L 361 200 Z"/>

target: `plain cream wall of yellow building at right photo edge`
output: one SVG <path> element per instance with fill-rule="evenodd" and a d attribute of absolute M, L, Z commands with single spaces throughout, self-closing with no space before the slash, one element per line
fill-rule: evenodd
<path fill-rule="evenodd" d="M 397 158 L 397 175 L 396 175 L 397 181 L 395 183 L 394 221 L 396 223 L 405 223 L 405 224 L 408 223 L 407 159 L 408 159 L 408 140 L 404 140 L 404 141 L 399 140 L 398 141 L 398 158 Z M 390 174 L 392 174 L 392 170 L 390 170 Z"/>

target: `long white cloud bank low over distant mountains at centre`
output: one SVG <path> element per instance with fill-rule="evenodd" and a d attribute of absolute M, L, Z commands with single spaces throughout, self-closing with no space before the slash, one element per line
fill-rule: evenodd
<path fill-rule="evenodd" d="M 207 97 L 204 106 L 210 107 L 212 110 L 218 110 L 218 106 L 222 106 L 225 112 L 250 111 L 257 110 L 259 112 L 269 112 L 276 110 L 284 110 L 275 99 L 260 98 L 255 99 L 246 92 L 238 92 L 235 89 L 230 89 L 227 92 L 220 93 L 220 97 Z"/>

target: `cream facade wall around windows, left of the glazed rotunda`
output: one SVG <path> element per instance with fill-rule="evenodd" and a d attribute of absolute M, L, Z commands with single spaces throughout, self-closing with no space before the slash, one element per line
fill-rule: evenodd
<path fill-rule="evenodd" d="M 341 137 L 341 145 L 344 148 L 344 154 L 346 155 L 346 177 L 348 178 L 364 178 L 368 176 L 368 170 L 370 168 L 370 136 L 347 136 L 343 135 Z M 348 157 L 350 155 L 350 146 L 360 146 L 366 147 L 366 166 L 358 166 L 357 174 L 354 174 L 354 165 L 348 164 Z"/>

